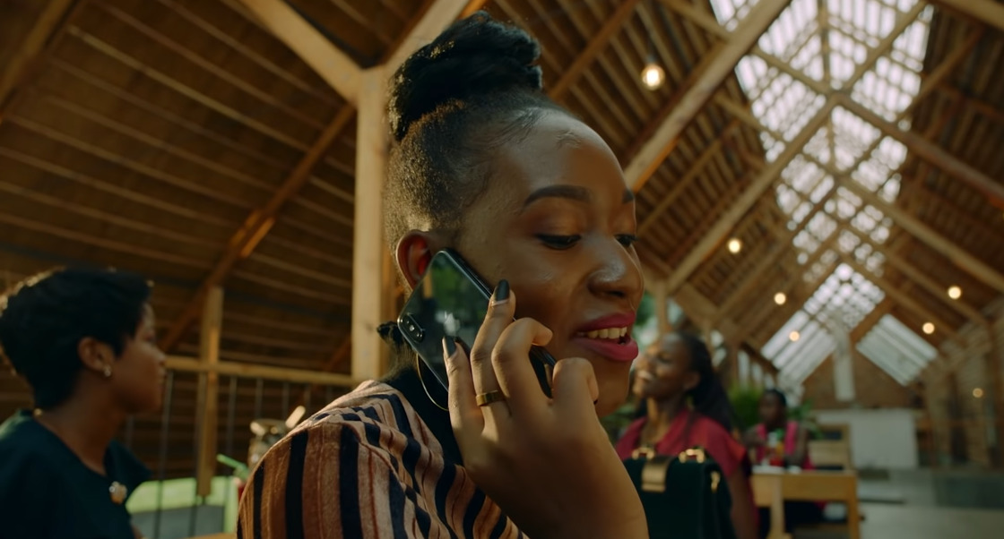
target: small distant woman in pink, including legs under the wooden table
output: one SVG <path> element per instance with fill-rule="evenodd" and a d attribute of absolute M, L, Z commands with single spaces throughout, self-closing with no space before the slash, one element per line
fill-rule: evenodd
<path fill-rule="evenodd" d="M 746 445 L 753 450 L 754 462 L 814 469 L 808 456 L 808 430 L 788 419 L 788 399 L 780 390 L 763 392 L 760 421 L 746 433 Z M 785 531 L 791 533 L 796 526 L 820 522 L 824 506 L 816 502 L 784 502 Z M 767 537 L 769 519 L 769 510 L 760 509 L 760 537 Z"/>

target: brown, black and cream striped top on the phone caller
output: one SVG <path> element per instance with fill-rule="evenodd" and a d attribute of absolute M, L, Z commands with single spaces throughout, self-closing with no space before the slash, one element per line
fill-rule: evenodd
<path fill-rule="evenodd" d="M 420 417 L 426 395 L 391 384 L 362 384 L 265 454 L 241 499 L 238 538 L 523 537 L 458 464 L 452 432 L 438 438 Z"/>

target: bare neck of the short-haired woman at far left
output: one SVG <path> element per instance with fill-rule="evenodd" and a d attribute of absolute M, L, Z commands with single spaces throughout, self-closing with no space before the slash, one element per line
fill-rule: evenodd
<path fill-rule="evenodd" d="M 35 421 L 62 440 L 87 468 L 104 475 L 104 454 L 126 415 L 86 399 L 71 399 L 36 411 Z"/>

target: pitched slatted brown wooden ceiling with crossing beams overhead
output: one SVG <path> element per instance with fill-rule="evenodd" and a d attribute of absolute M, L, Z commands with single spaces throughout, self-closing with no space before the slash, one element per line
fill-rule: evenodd
<path fill-rule="evenodd" d="M 842 1 L 812 0 L 814 12 L 838 14 Z M 802 0 L 735 0 L 738 13 L 720 18 L 708 0 L 492 0 L 465 12 L 484 7 L 538 37 L 548 92 L 609 142 L 639 189 L 650 279 L 702 325 L 761 350 L 845 263 L 885 292 L 873 313 L 938 346 L 1004 293 L 1004 4 L 868 1 L 894 10 L 877 39 L 836 15 L 804 28 L 778 18 Z M 0 276 L 71 261 L 150 276 L 164 344 L 180 354 L 198 352 L 193 323 L 224 286 L 223 359 L 347 372 L 353 81 L 410 50 L 405 36 L 427 15 L 461 4 L 0 2 Z M 895 41 L 917 21 L 930 28 L 919 88 L 884 111 L 868 101 L 880 90 L 857 82 L 909 64 Z M 794 46 L 761 38 L 785 25 Z M 812 36 L 826 32 L 861 50 L 849 72 L 810 68 Z M 765 66 L 755 87 L 734 69 L 746 56 Z M 666 71 L 655 91 L 639 76 L 650 57 Z M 763 92 L 807 97 L 771 123 L 757 113 Z M 854 140 L 842 127 L 854 122 L 882 135 Z M 882 187 L 856 180 L 886 140 L 906 149 L 902 162 Z M 856 153 L 843 162 L 838 146 Z M 827 147 L 831 160 L 818 157 Z M 808 184 L 792 213 L 781 192 L 798 190 L 799 174 Z M 855 224 L 865 218 L 885 231 Z M 814 219 L 829 232 L 813 236 L 827 229 Z M 921 334 L 932 321 L 938 331 Z"/>

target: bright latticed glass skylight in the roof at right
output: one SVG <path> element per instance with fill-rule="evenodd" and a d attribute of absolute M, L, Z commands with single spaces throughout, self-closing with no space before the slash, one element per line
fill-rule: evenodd
<path fill-rule="evenodd" d="M 731 30 L 757 0 L 711 3 L 718 21 Z M 762 125 L 767 161 L 777 159 L 826 101 L 825 95 L 778 69 L 777 61 L 824 87 L 849 85 L 854 101 L 909 128 L 905 112 L 920 90 L 931 16 L 931 7 L 917 0 L 792 0 L 761 36 L 760 50 L 736 66 Z M 899 35 L 892 47 L 869 62 L 873 50 L 894 33 Z M 863 70 L 866 62 L 870 65 Z M 902 143 L 837 106 L 781 172 L 777 203 L 789 217 L 788 229 L 796 232 L 797 261 L 808 284 L 821 285 L 761 351 L 780 369 L 778 385 L 800 387 L 834 351 L 832 335 L 855 328 L 885 299 L 868 276 L 882 276 L 885 256 L 872 245 L 889 239 L 892 219 L 840 183 L 854 181 L 892 202 L 900 191 L 896 171 L 906 157 Z M 925 349 L 917 343 L 927 345 L 887 315 L 856 348 L 906 384 L 930 361 L 930 345 Z"/>

